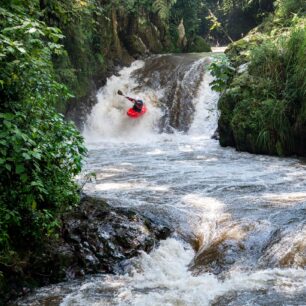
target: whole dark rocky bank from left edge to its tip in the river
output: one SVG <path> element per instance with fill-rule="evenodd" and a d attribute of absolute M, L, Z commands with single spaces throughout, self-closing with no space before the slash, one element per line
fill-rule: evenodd
<path fill-rule="evenodd" d="M 0 304 L 30 288 L 92 273 L 120 273 L 128 259 L 150 252 L 171 230 L 104 200 L 84 197 L 80 206 L 62 216 L 60 238 L 42 242 L 14 266 L 1 266 Z"/>

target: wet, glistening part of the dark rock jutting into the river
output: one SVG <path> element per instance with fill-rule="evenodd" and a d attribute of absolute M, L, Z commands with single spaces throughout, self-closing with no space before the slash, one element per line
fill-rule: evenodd
<path fill-rule="evenodd" d="M 134 211 L 111 209 L 103 200 L 92 198 L 85 198 L 75 212 L 64 216 L 63 224 L 63 238 L 78 263 L 67 277 L 82 273 L 80 269 L 113 273 L 120 261 L 139 251 L 150 252 L 171 232 Z"/>

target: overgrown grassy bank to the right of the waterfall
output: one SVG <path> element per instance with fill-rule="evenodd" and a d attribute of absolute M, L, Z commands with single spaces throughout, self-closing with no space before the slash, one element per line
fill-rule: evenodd
<path fill-rule="evenodd" d="M 230 45 L 230 61 L 217 65 L 220 143 L 251 153 L 305 155 L 306 3 L 276 4 L 274 15 Z"/>

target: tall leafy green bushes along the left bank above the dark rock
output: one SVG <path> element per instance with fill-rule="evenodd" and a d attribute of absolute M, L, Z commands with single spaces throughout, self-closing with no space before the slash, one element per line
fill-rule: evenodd
<path fill-rule="evenodd" d="M 73 177 L 86 153 L 54 105 L 71 95 L 55 80 L 52 56 L 64 53 L 57 28 L 20 6 L 0 9 L 0 259 L 29 248 L 77 203 Z"/>

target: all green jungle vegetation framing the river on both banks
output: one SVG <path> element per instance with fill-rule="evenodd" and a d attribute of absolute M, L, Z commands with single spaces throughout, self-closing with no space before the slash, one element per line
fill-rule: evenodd
<path fill-rule="evenodd" d="M 78 204 L 74 178 L 86 149 L 61 112 L 110 67 L 144 55 L 139 37 L 155 53 L 209 51 L 266 18 L 254 43 L 238 41 L 227 53 L 230 67 L 248 63 L 247 72 L 216 65 L 227 88 L 221 143 L 293 152 L 306 130 L 305 3 L 278 0 L 269 15 L 273 2 L 0 0 L 0 289 L 1 271 L 56 239 L 61 213 Z"/>

